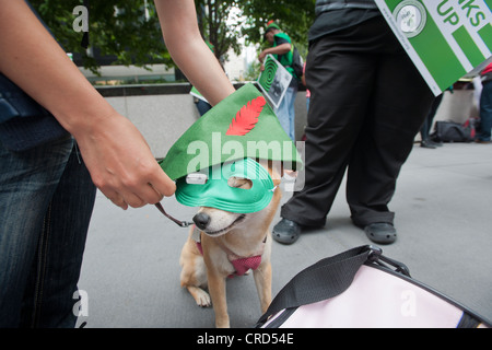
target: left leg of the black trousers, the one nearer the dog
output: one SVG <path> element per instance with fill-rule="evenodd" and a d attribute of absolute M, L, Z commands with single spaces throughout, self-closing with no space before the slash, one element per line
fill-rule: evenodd
<path fill-rule="evenodd" d="M 359 43 L 351 30 L 326 36 L 309 49 L 306 182 L 281 210 L 282 218 L 302 225 L 325 224 L 365 115 L 371 94 L 365 82 L 375 72 L 372 58 L 353 48 Z"/>

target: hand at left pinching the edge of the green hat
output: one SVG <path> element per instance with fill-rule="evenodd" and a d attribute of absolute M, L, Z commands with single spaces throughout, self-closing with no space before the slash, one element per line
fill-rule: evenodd
<path fill-rule="evenodd" d="M 115 113 L 74 137 L 95 186 L 116 206 L 153 205 L 176 190 L 140 131 L 124 116 Z"/>

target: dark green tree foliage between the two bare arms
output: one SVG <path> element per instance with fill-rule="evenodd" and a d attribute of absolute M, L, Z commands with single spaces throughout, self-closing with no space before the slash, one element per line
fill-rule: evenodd
<path fill-rule="evenodd" d="M 31 0 L 42 19 L 68 52 L 80 54 L 81 65 L 95 71 L 98 63 L 81 46 L 83 33 L 73 30 L 73 9 L 82 0 Z M 172 65 L 153 1 L 90 1 L 90 48 L 101 56 L 114 56 L 115 63 L 145 66 Z M 91 52 L 91 50 L 89 50 Z"/>

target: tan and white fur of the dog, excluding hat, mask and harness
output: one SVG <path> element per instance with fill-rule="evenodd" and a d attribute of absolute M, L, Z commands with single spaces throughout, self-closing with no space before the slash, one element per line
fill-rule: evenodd
<path fill-rule="evenodd" d="M 279 206 L 281 192 L 279 188 L 281 171 L 265 166 L 277 186 L 270 203 L 262 210 L 242 214 L 200 207 L 197 215 L 210 218 L 207 226 L 200 231 L 203 255 L 192 240 L 192 231 L 186 241 L 179 264 L 181 270 L 181 287 L 186 287 L 199 306 L 210 306 L 215 313 L 216 327 L 230 327 L 227 304 L 225 298 L 225 279 L 234 272 L 234 267 L 227 256 L 239 257 L 258 255 L 262 248 L 261 264 L 254 270 L 254 279 L 265 313 L 271 302 L 271 233 L 270 223 Z M 243 178 L 231 178 L 230 186 L 250 188 L 251 182 Z M 194 221 L 196 221 L 195 215 Z M 265 241 L 266 240 L 266 241 Z M 203 289 L 209 289 L 207 293 Z"/>

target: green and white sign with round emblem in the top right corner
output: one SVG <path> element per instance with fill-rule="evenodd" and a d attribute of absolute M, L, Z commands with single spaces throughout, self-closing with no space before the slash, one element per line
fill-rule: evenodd
<path fill-rule="evenodd" d="M 435 95 L 492 56 L 492 0 L 375 0 Z"/>

